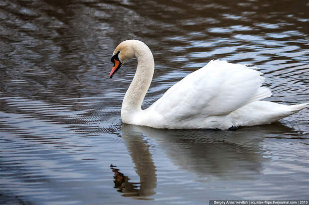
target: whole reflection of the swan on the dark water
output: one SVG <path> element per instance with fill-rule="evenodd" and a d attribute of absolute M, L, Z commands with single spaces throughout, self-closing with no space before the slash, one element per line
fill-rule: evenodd
<path fill-rule="evenodd" d="M 122 124 L 121 130 L 140 183 L 130 183 L 127 176 L 112 169 L 115 188 L 123 196 L 137 199 L 155 194 L 156 167 L 150 150 L 163 152 L 172 164 L 198 176 L 200 182 L 255 180 L 268 160 L 265 137 L 292 131 L 280 123 L 238 131 L 167 130 L 129 124 Z M 155 163 L 164 167 L 160 161 Z"/>

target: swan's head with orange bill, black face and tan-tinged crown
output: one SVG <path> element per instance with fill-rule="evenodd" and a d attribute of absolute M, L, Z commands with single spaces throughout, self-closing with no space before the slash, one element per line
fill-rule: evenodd
<path fill-rule="evenodd" d="M 137 40 L 126 40 L 121 42 L 115 49 L 112 56 L 113 69 L 110 73 L 110 78 L 113 78 L 114 74 L 122 66 L 122 64 L 135 56 L 134 43 Z"/>

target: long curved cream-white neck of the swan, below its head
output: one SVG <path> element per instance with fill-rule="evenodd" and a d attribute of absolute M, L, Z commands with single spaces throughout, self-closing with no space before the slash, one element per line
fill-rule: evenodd
<path fill-rule="evenodd" d="M 142 110 L 143 100 L 154 75 L 154 56 L 148 46 L 136 45 L 134 50 L 138 66 L 121 107 L 122 121 L 131 124 L 134 123 L 135 114 Z"/>

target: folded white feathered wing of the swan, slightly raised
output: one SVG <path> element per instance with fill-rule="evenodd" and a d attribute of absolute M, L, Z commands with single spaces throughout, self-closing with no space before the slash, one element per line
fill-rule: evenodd
<path fill-rule="evenodd" d="M 245 65 L 212 60 L 173 85 L 149 108 L 172 120 L 226 115 L 272 95 L 261 87 L 261 75 Z"/>

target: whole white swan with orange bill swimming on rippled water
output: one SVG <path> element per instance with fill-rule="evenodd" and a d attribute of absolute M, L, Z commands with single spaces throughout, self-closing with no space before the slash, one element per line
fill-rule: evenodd
<path fill-rule="evenodd" d="M 272 96 L 261 87 L 262 73 L 241 64 L 211 60 L 170 87 L 147 109 L 142 103 L 154 74 L 154 57 L 139 40 L 126 40 L 115 49 L 110 78 L 136 57 L 135 76 L 121 107 L 123 123 L 168 129 L 230 129 L 267 124 L 287 117 L 309 103 L 284 105 L 262 99 Z"/>

